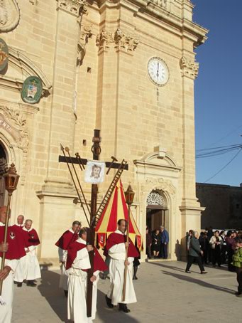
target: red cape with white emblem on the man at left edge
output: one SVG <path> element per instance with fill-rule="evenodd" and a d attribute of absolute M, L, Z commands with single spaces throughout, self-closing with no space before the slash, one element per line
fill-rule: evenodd
<path fill-rule="evenodd" d="M 0 242 L 4 241 L 4 229 L 5 226 L 0 226 Z M 23 235 L 14 226 L 9 226 L 7 232 L 6 242 L 9 243 L 9 250 L 6 252 L 6 259 L 13 260 L 22 258 L 26 255 Z M 0 253 L 0 257 L 2 255 L 3 253 Z"/>

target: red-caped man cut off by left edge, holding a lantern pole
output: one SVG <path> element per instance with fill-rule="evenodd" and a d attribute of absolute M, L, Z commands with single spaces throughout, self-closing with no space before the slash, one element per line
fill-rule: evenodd
<path fill-rule="evenodd" d="M 9 226 L 7 231 L 7 243 L 4 245 L 4 230 L 6 223 L 6 206 L 0 208 L 0 268 L 3 252 L 6 252 L 4 270 L 0 270 L 0 280 L 3 281 L 1 297 L 5 305 L 0 304 L 0 323 L 10 323 L 13 304 L 13 274 L 26 252 L 19 230 Z"/>

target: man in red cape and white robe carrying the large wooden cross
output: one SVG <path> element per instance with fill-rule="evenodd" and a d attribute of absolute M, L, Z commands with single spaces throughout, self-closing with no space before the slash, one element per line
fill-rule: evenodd
<path fill-rule="evenodd" d="M 92 290 L 92 317 L 87 317 L 87 270 L 91 268 L 89 252 L 94 250 L 94 274 L 90 278 Z M 87 245 L 87 229 L 82 228 L 79 239 L 72 243 L 67 255 L 68 280 L 68 319 L 74 322 L 90 323 L 97 311 L 97 282 L 99 271 L 107 269 L 96 248 Z"/>

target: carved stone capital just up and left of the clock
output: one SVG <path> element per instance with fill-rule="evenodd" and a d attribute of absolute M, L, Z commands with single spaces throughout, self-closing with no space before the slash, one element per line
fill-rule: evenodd
<path fill-rule="evenodd" d="M 125 35 L 120 28 L 114 33 L 115 48 L 118 51 L 133 52 L 138 46 L 139 40 L 136 37 Z"/>

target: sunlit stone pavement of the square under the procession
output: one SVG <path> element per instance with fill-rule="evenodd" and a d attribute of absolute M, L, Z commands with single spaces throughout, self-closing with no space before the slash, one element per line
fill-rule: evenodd
<path fill-rule="evenodd" d="M 197 323 L 242 322 L 242 298 L 236 297 L 236 274 L 226 268 L 207 268 L 201 275 L 197 265 L 185 273 L 183 262 L 141 263 L 134 281 L 138 303 L 131 313 L 108 309 L 104 295 L 109 280 L 99 280 L 97 318 L 94 323 Z M 44 270 L 38 287 L 14 287 L 12 323 L 57 323 L 67 321 L 67 299 L 59 290 L 59 271 Z M 76 322 L 82 323 L 82 322 Z"/>

